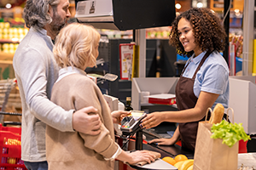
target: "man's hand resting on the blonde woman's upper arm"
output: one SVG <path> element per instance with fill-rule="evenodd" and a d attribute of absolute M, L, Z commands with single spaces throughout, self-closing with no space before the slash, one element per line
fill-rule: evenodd
<path fill-rule="evenodd" d="M 96 113 L 96 109 L 92 106 L 85 107 L 73 113 L 73 129 L 81 133 L 97 135 L 101 133 L 101 119 L 97 114 L 89 115 L 88 113 Z"/>

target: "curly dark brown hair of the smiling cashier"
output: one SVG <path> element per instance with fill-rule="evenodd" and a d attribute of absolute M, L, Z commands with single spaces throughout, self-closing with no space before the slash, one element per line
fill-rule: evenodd
<path fill-rule="evenodd" d="M 177 48 L 177 54 L 188 57 L 194 54 L 193 51 L 186 52 L 179 41 L 177 24 L 182 18 L 189 20 L 194 32 L 195 43 L 199 45 L 202 51 L 217 50 L 220 52 L 224 50 L 227 35 L 218 16 L 209 8 L 190 8 L 178 15 L 172 22 L 169 43 Z"/>

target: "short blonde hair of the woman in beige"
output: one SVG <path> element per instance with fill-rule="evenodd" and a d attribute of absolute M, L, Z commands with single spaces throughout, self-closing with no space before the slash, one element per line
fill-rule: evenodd
<path fill-rule="evenodd" d="M 93 55 L 101 35 L 92 26 L 72 23 L 62 28 L 56 37 L 53 53 L 57 64 L 61 67 L 96 65 Z"/>

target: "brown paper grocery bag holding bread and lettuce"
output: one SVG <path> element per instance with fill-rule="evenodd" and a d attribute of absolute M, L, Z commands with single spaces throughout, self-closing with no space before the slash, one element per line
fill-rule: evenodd
<path fill-rule="evenodd" d="M 229 147 L 222 139 L 211 139 L 211 127 L 208 122 L 199 122 L 193 170 L 236 170 L 238 142 Z"/>

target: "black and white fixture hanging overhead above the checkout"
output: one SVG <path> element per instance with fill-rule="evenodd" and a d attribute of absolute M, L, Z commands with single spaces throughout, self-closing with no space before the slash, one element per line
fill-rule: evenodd
<path fill-rule="evenodd" d="M 175 0 L 75 0 L 75 17 L 100 29 L 119 31 L 171 26 Z"/>

